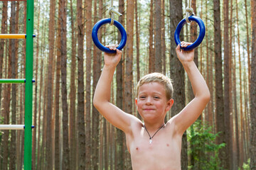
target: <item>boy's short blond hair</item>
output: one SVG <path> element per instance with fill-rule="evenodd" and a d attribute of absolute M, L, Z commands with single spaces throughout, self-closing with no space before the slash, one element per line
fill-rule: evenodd
<path fill-rule="evenodd" d="M 164 74 L 161 74 L 158 72 L 146 74 L 144 77 L 142 77 L 142 79 L 139 80 L 137 84 L 137 96 L 138 96 L 140 86 L 142 86 L 143 84 L 152 83 L 152 82 L 157 82 L 164 86 L 164 89 L 166 91 L 166 98 L 168 101 L 172 98 L 174 89 L 171 84 L 171 79 L 166 77 Z"/>

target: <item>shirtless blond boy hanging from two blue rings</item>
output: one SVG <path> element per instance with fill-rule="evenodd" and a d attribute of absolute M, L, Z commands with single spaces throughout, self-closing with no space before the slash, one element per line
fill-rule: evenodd
<path fill-rule="evenodd" d="M 190 44 L 181 42 L 181 47 Z M 107 47 L 117 50 L 117 45 Z M 178 45 L 176 54 L 188 74 L 195 98 L 167 123 L 164 123 L 166 112 L 174 104 L 170 79 L 154 73 L 139 81 L 135 102 L 144 120 L 142 123 L 134 115 L 124 113 L 110 103 L 112 77 L 122 52 L 117 50 L 116 54 L 104 54 L 105 65 L 95 89 L 93 104 L 112 125 L 125 133 L 134 170 L 181 169 L 183 132 L 196 121 L 210 100 L 206 81 L 193 62 L 193 50 L 183 51 Z"/>

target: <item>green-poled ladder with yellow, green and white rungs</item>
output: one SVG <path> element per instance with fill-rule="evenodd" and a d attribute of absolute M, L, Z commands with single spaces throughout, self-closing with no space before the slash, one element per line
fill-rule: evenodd
<path fill-rule="evenodd" d="M 6 1 L 6 0 L 0 0 Z M 8 0 L 14 1 L 14 0 Z M 22 0 L 16 0 L 22 1 Z M 1 84 L 25 84 L 25 125 L 0 125 L 0 130 L 24 130 L 24 169 L 31 170 L 32 159 L 32 100 L 33 100 L 33 18 L 34 0 L 25 0 L 26 34 L 0 34 L 0 38 L 26 39 L 26 75 L 25 79 L 0 79 Z M 26 128 L 25 128 L 26 127 Z"/>

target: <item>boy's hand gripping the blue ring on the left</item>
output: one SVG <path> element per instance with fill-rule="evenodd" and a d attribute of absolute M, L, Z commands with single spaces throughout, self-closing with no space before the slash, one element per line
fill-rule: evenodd
<path fill-rule="evenodd" d="M 105 66 L 113 66 L 116 67 L 119 61 L 121 60 L 122 51 L 118 50 L 118 45 L 106 45 L 105 47 L 110 48 L 110 50 L 116 50 L 114 53 L 104 52 L 104 62 Z"/>

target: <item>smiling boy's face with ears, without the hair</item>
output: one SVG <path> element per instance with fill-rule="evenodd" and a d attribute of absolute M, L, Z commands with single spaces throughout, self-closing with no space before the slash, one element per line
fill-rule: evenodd
<path fill-rule="evenodd" d="M 174 100 L 167 101 L 164 85 L 158 82 L 151 82 L 139 87 L 138 98 L 136 98 L 135 102 L 142 118 L 152 121 L 157 118 L 164 118 Z"/>

